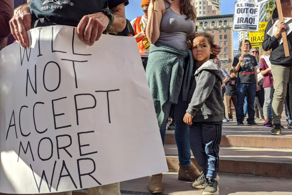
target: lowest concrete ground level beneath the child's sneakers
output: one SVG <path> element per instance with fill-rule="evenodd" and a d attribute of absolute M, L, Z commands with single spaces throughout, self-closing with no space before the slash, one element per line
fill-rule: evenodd
<path fill-rule="evenodd" d="M 244 174 L 219 173 L 221 195 L 291 195 L 292 182 L 283 177 L 263 177 Z M 177 172 L 163 173 L 163 193 L 157 195 L 201 195 L 203 189 L 195 189 L 191 182 L 177 179 Z M 149 177 L 120 183 L 121 194 L 152 195 L 148 190 Z M 75 190 L 73 195 L 87 195 L 87 190 Z M 109 194 L 110 195 L 110 194 Z"/>

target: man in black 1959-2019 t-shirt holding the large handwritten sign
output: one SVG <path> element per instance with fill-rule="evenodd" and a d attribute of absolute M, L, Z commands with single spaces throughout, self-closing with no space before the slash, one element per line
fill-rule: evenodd
<path fill-rule="evenodd" d="M 22 47 L 29 46 L 27 30 L 56 24 L 77 27 L 80 40 L 93 45 L 106 29 L 120 32 L 125 28 L 127 4 L 128 0 L 27 0 L 14 10 L 10 28 Z"/>

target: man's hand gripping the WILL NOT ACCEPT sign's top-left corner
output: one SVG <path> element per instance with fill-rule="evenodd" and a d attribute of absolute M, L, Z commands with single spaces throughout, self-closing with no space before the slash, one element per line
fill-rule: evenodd
<path fill-rule="evenodd" d="M 9 22 L 11 34 L 21 44 L 22 47 L 28 47 L 27 30 L 31 28 L 31 13 L 27 5 L 20 5 L 14 10 L 14 16 Z"/>

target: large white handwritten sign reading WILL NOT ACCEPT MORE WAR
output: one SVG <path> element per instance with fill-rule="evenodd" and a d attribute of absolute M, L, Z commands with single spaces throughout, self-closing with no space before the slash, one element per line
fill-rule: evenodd
<path fill-rule="evenodd" d="M 0 192 L 62 192 L 168 171 L 133 37 L 102 35 L 88 46 L 68 26 L 28 35 L 30 48 L 0 52 Z"/>

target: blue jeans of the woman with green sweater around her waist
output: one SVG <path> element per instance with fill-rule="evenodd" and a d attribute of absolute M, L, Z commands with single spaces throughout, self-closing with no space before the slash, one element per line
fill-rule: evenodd
<path fill-rule="evenodd" d="M 160 135 L 162 143 L 165 140 L 166 123 L 169 116 L 171 103 L 166 102 L 162 106 L 162 110 L 165 114 L 164 122 L 160 127 Z M 174 130 L 174 137 L 176 139 L 176 146 L 179 154 L 179 163 L 183 168 L 187 168 L 191 164 L 191 151 L 189 145 L 189 125 L 183 122 L 183 117 L 186 114 L 188 108 L 188 101 L 182 100 L 182 93 L 179 94 L 179 99 L 174 107 L 174 118 L 176 120 L 176 128 Z"/>

